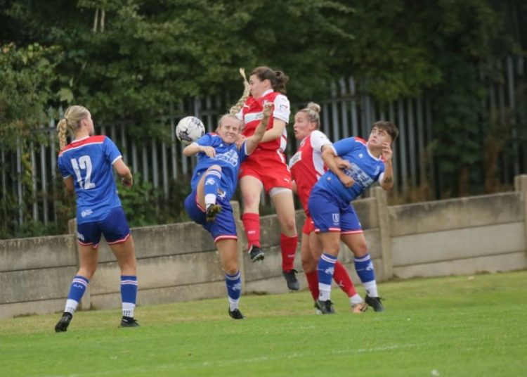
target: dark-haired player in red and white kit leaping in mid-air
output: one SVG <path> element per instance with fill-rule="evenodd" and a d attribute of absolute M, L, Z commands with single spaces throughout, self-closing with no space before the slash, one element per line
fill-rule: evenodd
<path fill-rule="evenodd" d="M 269 194 L 280 222 L 280 248 L 282 250 L 282 274 L 291 290 L 299 290 L 294 256 L 297 251 L 297 227 L 295 224 L 292 177 L 285 158 L 287 132 L 291 110 L 285 94 L 289 80 L 282 71 L 268 67 L 254 68 L 249 77 L 250 96 L 243 103 L 237 116 L 245 123 L 242 134 L 249 137 L 259 124 L 263 105 L 273 103 L 273 113 L 266 133 L 256 151 L 240 167 L 240 190 L 243 200 L 242 222 L 249 243 L 249 256 L 253 262 L 263 260 L 260 243 L 259 205 L 262 188 Z"/>

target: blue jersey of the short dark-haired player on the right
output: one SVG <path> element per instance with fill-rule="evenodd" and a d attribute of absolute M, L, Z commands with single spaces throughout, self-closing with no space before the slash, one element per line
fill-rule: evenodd
<path fill-rule="evenodd" d="M 337 175 L 328 170 L 315 186 L 330 191 L 345 202 L 351 202 L 366 188 L 379 181 L 379 177 L 384 173 L 384 162 L 381 158 L 375 158 L 368 151 L 366 141 L 357 137 L 337 141 L 333 144 L 333 148 L 340 158 L 351 163 L 351 167 L 344 170 L 344 173 L 353 178 L 355 183 L 351 187 L 346 187 Z"/>

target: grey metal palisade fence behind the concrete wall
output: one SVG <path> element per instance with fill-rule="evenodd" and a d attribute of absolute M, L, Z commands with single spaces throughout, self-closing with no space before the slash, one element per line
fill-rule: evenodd
<path fill-rule="evenodd" d="M 514 93 L 521 90 L 519 82 L 525 82 L 523 58 L 507 58 L 503 69 L 505 81 L 489 88 L 485 105 L 505 122 L 505 114 L 516 109 Z M 375 120 L 391 120 L 400 131 L 393 146 L 396 190 L 405 193 L 422 184 L 434 186 L 436 173 L 434 159 L 429 151 L 430 143 L 434 140 L 432 99 L 426 96 L 419 99 L 401 98 L 380 107 L 367 91 L 358 90 L 358 87 L 367 87 L 367 82 L 357 83 L 353 78 L 348 78 L 331 84 L 327 98 L 318 101 L 322 107 L 323 132 L 334 141 L 348 136 L 367 138 Z M 129 122 L 96 127 L 96 132 L 110 136 L 133 172 L 140 173 L 143 180 L 151 182 L 154 188 L 168 197 L 171 195 L 171 181 L 188 177 L 195 163 L 193 158 L 183 156 L 181 143 L 176 141 L 174 129 L 178 120 L 186 115 L 195 115 L 204 122 L 207 131 L 212 131 L 219 116 L 237 99 L 232 96 L 207 96 L 172 104 L 168 113 L 159 120 L 164 136 L 148 136 L 147 139 L 137 140 Z M 301 108 L 304 103 L 293 105 L 297 105 L 293 108 Z M 524 125 L 526 120 L 518 119 L 517 123 Z M 290 156 L 297 148 L 297 141 L 292 137 L 292 123 L 288 130 L 287 153 Z M 0 145 L 2 200 L 16 201 L 18 213 L 15 221 L 18 224 L 34 219 L 47 225 L 57 220 L 55 198 L 62 189 L 58 191 L 61 179 L 56 168 L 56 120 L 43 126 L 41 132 L 46 134 L 46 142 L 39 145 L 31 143 L 29 148 L 22 148 L 19 143 L 16 153 L 6 153 Z M 512 128 L 511 136 L 514 155 L 518 158 L 502 158 L 501 179 L 505 183 L 511 183 L 513 177 L 522 170 L 525 172 L 527 165 L 526 143 L 519 139 L 517 127 Z M 30 153 L 30 167 L 23 166 L 22 153 Z M 27 174 L 28 170 L 32 175 L 32 198 L 24 197 L 27 190 L 22 184 L 22 175 Z M 26 209 L 25 203 L 32 203 L 31 210 Z M 13 217 L 13 214 L 4 213 L 3 217 Z"/>

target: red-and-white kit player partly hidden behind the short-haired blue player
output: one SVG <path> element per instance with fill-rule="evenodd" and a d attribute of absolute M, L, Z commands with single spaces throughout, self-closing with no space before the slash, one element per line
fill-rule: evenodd
<path fill-rule="evenodd" d="M 301 258 L 308 287 L 315 301 L 319 294 L 317 264 L 323 248 L 314 232 L 313 221 L 309 216 L 308 199 L 311 188 L 325 172 L 321 157 L 322 151 L 332 145 L 330 139 L 318 130 L 320 127 L 319 113 L 320 106 L 310 102 L 306 108 L 294 115 L 294 137 L 300 141 L 300 146 L 297 153 L 289 160 L 293 185 L 296 186 L 297 195 L 306 213 L 306 221 L 302 228 Z M 333 279 L 348 295 L 353 313 L 364 312 L 367 309 L 367 304 L 358 295 L 346 267 L 338 261 L 335 263 Z"/>

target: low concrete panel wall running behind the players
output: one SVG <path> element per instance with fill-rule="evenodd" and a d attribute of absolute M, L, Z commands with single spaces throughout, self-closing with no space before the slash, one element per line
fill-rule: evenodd
<path fill-rule="evenodd" d="M 400 277 L 474 274 L 527 268 L 527 176 L 516 177 L 516 191 L 489 196 L 386 206 L 386 193 L 374 188 L 354 205 L 379 281 Z M 234 203 L 239 218 L 238 203 Z M 304 215 L 297 212 L 299 234 Z M 74 229 L 74 224 L 70 224 Z M 138 305 L 225 297 L 219 258 L 206 231 L 193 223 L 132 229 L 138 258 Z M 261 218 L 263 262 L 252 263 L 242 223 L 238 255 L 245 293 L 285 293 L 280 228 L 274 215 Z M 295 268 L 301 272 L 300 247 Z M 339 254 L 353 278 L 353 257 Z M 120 306 L 119 269 L 101 243 L 99 265 L 82 300 L 83 309 Z M 74 235 L 0 241 L 0 319 L 63 310 L 77 271 Z"/>

